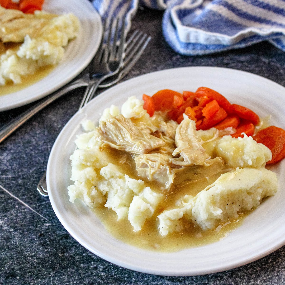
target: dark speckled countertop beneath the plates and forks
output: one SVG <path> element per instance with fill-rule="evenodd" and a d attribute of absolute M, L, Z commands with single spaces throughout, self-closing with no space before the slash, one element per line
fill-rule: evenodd
<path fill-rule="evenodd" d="M 285 53 L 267 42 L 209 56 L 186 57 L 164 41 L 162 13 L 139 10 L 132 30 L 152 36 L 126 79 L 180 66 L 221 66 L 285 86 Z M 90 253 L 58 221 L 36 185 L 52 145 L 80 104 L 82 89 L 36 114 L 0 144 L 0 284 L 285 284 L 285 247 L 245 266 L 192 277 L 165 277 L 121 268 Z M 32 104 L 0 113 L 0 127 Z M 29 207 L 20 203 L 21 199 Z M 47 221 L 47 220 L 48 221 Z"/>

